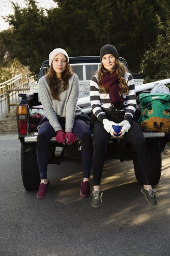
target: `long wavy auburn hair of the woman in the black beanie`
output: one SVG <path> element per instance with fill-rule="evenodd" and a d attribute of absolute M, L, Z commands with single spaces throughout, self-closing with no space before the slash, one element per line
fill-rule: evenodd
<path fill-rule="evenodd" d="M 105 76 L 105 74 L 108 72 L 109 71 L 104 67 L 103 63 L 101 63 L 101 66 L 97 73 L 98 74 L 99 92 L 104 91 L 106 94 L 108 94 L 108 91 L 105 87 L 103 87 L 101 80 Z M 114 72 L 118 76 L 118 83 L 121 86 L 119 95 L 121 96 L 123 93 L 127 95 L 129 90 L 128 90 L 127 83 L 124 79 L 126 69 L 125 69 L 124 65 L 117 58 L 115 59 L 114 69 L 112 70 L 112 72 L 110 72 L 110 74 L 113 74 Z"/>

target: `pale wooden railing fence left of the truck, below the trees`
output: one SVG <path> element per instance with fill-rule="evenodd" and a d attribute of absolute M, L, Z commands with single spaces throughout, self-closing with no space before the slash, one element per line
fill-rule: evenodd
<path fill-rule="evenodd" d="M 28 83 L 34 83 L 34 77 L 28 75 L 15 75 L 12 79 L 0 83 L 0 120 L 5 118 L 10 110 L 19 102 L 18 94 L 29 90 Z"/>

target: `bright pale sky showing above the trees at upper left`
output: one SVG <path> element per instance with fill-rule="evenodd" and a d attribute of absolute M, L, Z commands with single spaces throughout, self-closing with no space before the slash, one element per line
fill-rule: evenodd
<path fill-rule="evenodd" d="M 13 14 L 13 5 L 11 0 L 0 0 L 0 31 L 9 27 L 9 24 L 2 19 L 1 16 Z M 26 7 L 26 0 L 13 0 L 15 4 L 18 4 L 21 8 Z M 52 0 L 36 0 L 38 7 L 44 9 L 50 9 L 56 7 L 57 4 Z"/>

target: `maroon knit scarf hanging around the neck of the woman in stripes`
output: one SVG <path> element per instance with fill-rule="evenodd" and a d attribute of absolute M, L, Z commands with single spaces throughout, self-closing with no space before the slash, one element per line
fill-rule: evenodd
<path fill-rule="evenodd" d="M 113 74 L 106 73 L 105 76 L 101 79 L 101 83 L 103 87 L 105 87 L 109 92 L 111 110 L 114 112 L 115 110 L 124 109 L 123 99 L 119 95 L 121 86 L 118 83 L 117 74 L 115 74 L 115 72 Z"/>

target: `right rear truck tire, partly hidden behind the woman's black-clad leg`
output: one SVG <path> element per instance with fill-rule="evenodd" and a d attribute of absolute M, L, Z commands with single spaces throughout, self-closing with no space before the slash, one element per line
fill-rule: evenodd
<path fill-rule="evenodd" d="M 160 147 L 158 142 L 150 142 L 148 143 L 148 151 L 150 155 L 150 177 L 151 177 L 151 184 L 157 185 L 159 183 L 161 177 L 161 170 L 162 170 L 162 156 L 160 152 Z M 133 166 L 135 170 L 135 176 L 137 181 L 140 184 L 144 184 L 142 175 L 139 171 L 139 166 L 137 159 L 133 160 Z"/>

